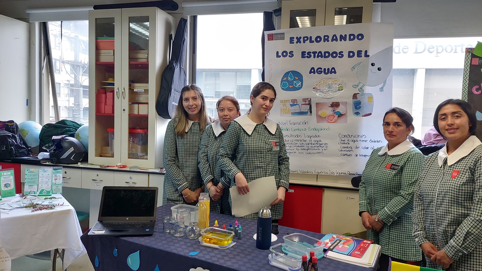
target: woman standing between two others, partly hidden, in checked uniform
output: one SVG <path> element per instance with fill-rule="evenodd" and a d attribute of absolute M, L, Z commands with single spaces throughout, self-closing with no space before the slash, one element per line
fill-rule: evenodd
<path fill-rule="evenodd" d="M 198 166 L 205 191 L 211 197 L 210 212 L 230 216 L 229 190 L 224 189 L 230 187 L 230 182 L 222 178 L 224 173 L 217 167 L 217 155 L 229 122 L 241 115 L 240 104 L 235 97 L 226 95 L 217 101 L 216 110 L 219 120 L 208 125 L 202 133 Z"/>

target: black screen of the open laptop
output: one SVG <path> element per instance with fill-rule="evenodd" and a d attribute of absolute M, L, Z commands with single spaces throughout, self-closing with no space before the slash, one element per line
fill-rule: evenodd
<path fill-rule="evenodd" d="M 154 217 L 156 189 L 105 189 L 99 217 Z"/>

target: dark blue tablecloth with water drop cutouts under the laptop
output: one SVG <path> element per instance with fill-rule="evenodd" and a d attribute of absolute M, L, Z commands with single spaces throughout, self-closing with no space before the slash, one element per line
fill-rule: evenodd
<path fill-rule="evenodd" d="M 269 250 L 256 248 L 253 235 L 256 221 L 211 213 L 210 222 L 217 220 L 222 227 L 237 219 L 241 223 L 243 238 L 234 240 L 237 244 L 228 249 L 216 249 L 200 244 L 198 240 L 187 237 L 175 238 L 162 232 L 162 218 L 171 216 L 173 205 L 163 205 L 157 209 L 157 222 L 152 236 L 145 237 L 108 237 L 89 236 L 87 232 L 80 238 L 96 271 L 189 271 L 201 267 L 210 271 L 280 271 L 268 261 Z M 304 233 L 314 238 L 323 234 L 279 227 L 278 240 L 272 244 L 284 243 L 283 236 L 290 233 Z M 200 251 L 196 256 L 190 252 Z M 322 271 L 373 271 L 348 263 L 327 259 L 318 261 Z M 157 269 L 156 269 L 157 268 Z"/>

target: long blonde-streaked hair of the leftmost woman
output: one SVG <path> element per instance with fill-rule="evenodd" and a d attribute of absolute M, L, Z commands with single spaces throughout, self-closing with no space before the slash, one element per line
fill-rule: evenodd
<path fill-rule="evenodd" d="M 175 131 L 177 136 L 184 137 L 186 135 L 187 127 L 187 112 L 183 106 L 183 95 L 190 90 L 194 90 L 201 99 L 201 108 L 199 109 L 199 128 L 201 132 L 204 131 L 207 125 L 211 124 L 211 118 L 206 110 L 206 100 L 204 100 L 204 95 L 202 94 L 201 88 L 195 84 L 190 84 L 181 89 L 181 96 L 179 96 L 179 101 L 177 102 L 177 107 L 174 110 L 174 121 L 175 121 Z"/>

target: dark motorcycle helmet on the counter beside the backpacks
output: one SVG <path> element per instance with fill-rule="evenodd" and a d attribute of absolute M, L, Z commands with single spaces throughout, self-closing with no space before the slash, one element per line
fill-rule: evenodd
<path fill-rule="evenodd" d="M 76 164 L 82 161 L 87 149 L 76 138 L 70 136 L 52 136 L 53 149 L 50 151 L 50 162 Z"/>

